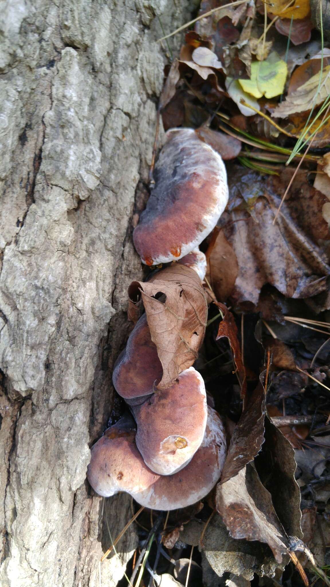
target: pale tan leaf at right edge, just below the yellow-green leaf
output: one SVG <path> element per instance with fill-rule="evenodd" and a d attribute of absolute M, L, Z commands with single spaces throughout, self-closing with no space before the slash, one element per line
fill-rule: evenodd
<path fill-rule="evenodd" d="M 289 114 L 311 110 L 324 102 L 330 93 L 330 65 L 326 66 L 321 76 L 319 86 L 319 73 L 316 73 L 308 82 L 305 82 L 295 92 L 292 92 L 286 99 L 275 108 L 272 117 L 285 118 Z M 319 91 L 318 90 L 319 86 Z M 321 121 L 320 121 L 321 122 Z"/>

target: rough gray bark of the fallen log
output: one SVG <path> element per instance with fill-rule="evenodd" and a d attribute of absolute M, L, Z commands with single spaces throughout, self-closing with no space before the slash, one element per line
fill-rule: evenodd
<path fill-rule="evenodd" d="M 9 0 L 0 14 L 0 583 L 94 586 L 102 500 L 85 475 L 141 277 L 130 235 L 163 79 L 156 16 L 170 32 L 187 0 Z M 124 495 L 107 501 L 113 536 L 130 515 Z"/>

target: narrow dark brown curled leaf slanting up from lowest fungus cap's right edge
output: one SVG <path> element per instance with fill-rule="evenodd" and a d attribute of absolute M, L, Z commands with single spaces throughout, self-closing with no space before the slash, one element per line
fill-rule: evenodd
<path fill-rule="evenodd" d="M 264 442 L 265 390 L 261 379 L 264 374 L 234 428 L 220 483 L 235 477 L 254 459 Z"/>

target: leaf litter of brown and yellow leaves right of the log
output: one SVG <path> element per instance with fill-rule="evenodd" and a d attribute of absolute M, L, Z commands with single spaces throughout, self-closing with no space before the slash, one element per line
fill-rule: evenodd
<path fill-rule="evenodd" d="M 130 316 L 146 312 L 159 389 L 196 359 L 228 453 L 205 500 L 164 512 L 145 584 L 329 584 L 330 49 L 315 22 L 309 0 L 202 0 L 165 70 L 164 128 L 221 154 L 230 198 L 201 245 L 203 287 L 182 265 L 147 271 Z M 288 158 L 313 137 L 297 173 Z M 139 523 L 143 549 L 153 513 Z"/>

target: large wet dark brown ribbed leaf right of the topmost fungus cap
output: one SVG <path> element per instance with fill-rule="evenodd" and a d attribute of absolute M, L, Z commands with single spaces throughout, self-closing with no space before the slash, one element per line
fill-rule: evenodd
<path fill-rule="evenodd" d="M 308 184 L 304 171 L 298 171 L 273 225 L 292 170 L 262 178 L 233 167 L 228 173 L 232 211 L 227 207 L 219 224 L 238 261 L 235 301 L 256 304 L 267 283 L 287 298 L 308 298 L 325 291 L 330 236 L 322 206 L 327 198 Z"/>

